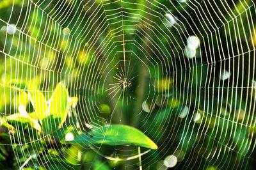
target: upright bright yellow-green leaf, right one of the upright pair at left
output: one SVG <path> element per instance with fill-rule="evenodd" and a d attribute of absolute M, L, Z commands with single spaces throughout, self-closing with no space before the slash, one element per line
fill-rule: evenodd
<path fill-rule="evenodd" d="M 56 87 L 49 104 L 47 116 L 42 119 L 42 125 L 47 134 L 55 132 L 65 122 L 68 111 L 68 91 L 59 83 Z"/>

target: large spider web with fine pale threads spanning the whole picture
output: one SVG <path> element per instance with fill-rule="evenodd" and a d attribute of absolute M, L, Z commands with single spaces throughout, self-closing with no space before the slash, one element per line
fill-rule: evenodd
<path fill-rule="evenodd" d="M 62 128 L 72 125 L 77 134 L 116 123 L 140 128 L 159 146 L 143 155 L 143 168 L 252 168 L 253 1 L 3 0 L 0 9 L 3 116 L 20 105 L 33 110 L 7 85 L 10 79 L 26 81 L 48 100 L 61 81 L 70 97 L 79 98 Z M 57 156 L 38 157 L 42 146 L 35 144 L 52 136 L 34 135 L 29 143 L 23 134 L 12 140 L 17 167 L 58 169 L 51 160 Z M 104 147 L 79 146 L 96 156 L 61 164 L 94 168 L 99 156 L 138 153 L 130 145 L 110 152 Z M 70 154 L 50 148 L 60 151 L 58 157 Z M 100 160 L 108 164 L 106 157 Z M 138 160 L 124 163 L 124 169 L 133 167 Z"/>

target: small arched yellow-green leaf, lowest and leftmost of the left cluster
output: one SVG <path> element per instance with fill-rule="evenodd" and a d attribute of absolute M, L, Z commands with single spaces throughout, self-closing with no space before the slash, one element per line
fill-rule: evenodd
<path fill-rule="evenodd" d="M 28 113 L 15 113 L 6 117 L 7 121 L 19 121 L 20 123 L 29 123 L 33 128 L 41 132 L 41 126 L 36 120 L 31 119 Z"/>

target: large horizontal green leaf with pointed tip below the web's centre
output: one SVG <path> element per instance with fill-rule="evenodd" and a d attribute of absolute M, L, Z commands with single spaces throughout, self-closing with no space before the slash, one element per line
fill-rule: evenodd
<path fill-rule="evenodd" d="M 127 125 L 106 125 L 94 128 L 89 133 L 77 135 L 71 144 L 135 144 L 145 148 L 157 149 L 157 145 L 140 130 Z"/>

